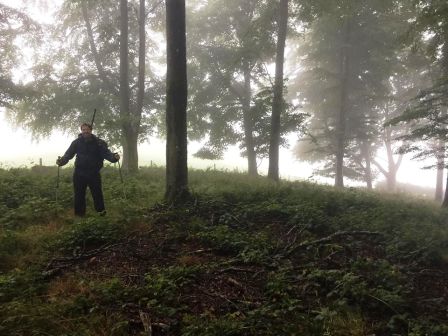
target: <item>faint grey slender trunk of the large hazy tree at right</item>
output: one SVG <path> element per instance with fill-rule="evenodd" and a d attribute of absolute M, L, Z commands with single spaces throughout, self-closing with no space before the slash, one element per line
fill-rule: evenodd
<path fill-rule="evenodd" d="M 350 21 L 347 19 L 344 21 L 342 28 L 344 38 L 343 45 L 341 46 L 341 59 L 340 59 L 340 76 L 341 76 L 341 95 L 340 95 L 340 107 L 338 113 L 337 124 L 337 138 L 336 138 L 336 176 L 335 186 L 338 188 L 344 187 L 344 154 L 345 154 L 345 128 L 348 108 L 348 77 L 349 77 L 349 64 L 350 64 Z"/>

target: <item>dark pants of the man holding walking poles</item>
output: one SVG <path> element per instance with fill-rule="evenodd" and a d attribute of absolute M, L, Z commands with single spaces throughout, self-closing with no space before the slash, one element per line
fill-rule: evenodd
<path fill-rule="evenodd" d="M 92 175 L 73 174 L 73 186 L 75 189 L 75 216 L 84 216 L 86 214 L 86 189 L 89 187 L 92 194 L 93 204 L 97 212 L 102 212 L 104 208 L 104 197 L 101 186 L 100 173 Z"/>

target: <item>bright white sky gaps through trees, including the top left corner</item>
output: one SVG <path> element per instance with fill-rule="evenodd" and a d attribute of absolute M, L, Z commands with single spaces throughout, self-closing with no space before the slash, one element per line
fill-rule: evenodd
<path fill-rule="evenodd" d="M 41 23 L 51 23 L 54 8 L 60 3 L 60 0 L 49 1 L 46 8 L 38 7 L 46 3 L 45 1 L 19 1 L 19 0 L 0 0 L 0 3 L 18 9 L 25 9 L 33 19 Z M 26 69 L 21 69 L 17 74 L 18 78 L 26 78 Z M 53 165 L 57 155 L 62 155 L 73 140 L 73 134 L 76 130 L 67 130 L 66 134 L 55 132 L 50 138 L 42 139 L 39 142 L 32 140 L 31 135 L 20 128 L 13 128 L 7 123 L 4 117 L 4 110 L 0 109 L 0 141 L 2 150 L 0 163 L 3 166 L 32 165 L 43 159 L 45 165 Z M 290 148 L 283 148 L 280 151 L 280 175 L 282 178 L 307 179 L 311 176 L 312 169 L 305 163 L 300 163 L 293 158 L 291 149 L 296 141 L 296 136 L 290 139 Z M 191 154 L 195 153 L 201 146 L 198 143 L 189 145 L 189 166 L 193 168 L 216 167 L 217 169 L 245 170 L 246 160 L 239 155 L 237 146 L 228 151 L 223 160 L 208 161 L 193 158 Z M 151 162 L 157 165 L 163 165 L 165 162 L 165 142 L 164 140 L 151 138 L 149 142 L 139 147 L 141 157 L 140 165 L 149 165 Z M 380 158 L 381 160 L 381 155 Z M 259 171 L 263 175 L 267 173 L 267 159 L 260 164 Z M 415 185 L 430 186 L 435 185 L 435 170 L 421 170 L 422 163 L 406 160 L 403 167 L 399 170 L 399 182 L 406 182 Z M 323 181 L 315 178 L 315 180 Z M 331 181 L 328 181 L 331 183 Z"/>

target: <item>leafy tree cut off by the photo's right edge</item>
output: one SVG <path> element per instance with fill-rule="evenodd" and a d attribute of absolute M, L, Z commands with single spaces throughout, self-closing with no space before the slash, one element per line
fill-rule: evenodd
<path fill-rule="evenodd" d="M 427 72 L 431 85 L 420 90 L 408 108 L 388 124 L 407 124 L 411 128 L 409 134 L 401 137 L 407 141 L 403 152 L 414 153 L 414 159 L 435 158 L 432 167 L 438 169 L 436 197 L 440 197 L 448 136 L 448 3 L 441 0 L 413 3 L 416 16 L 409 34 L 410 44 L 415 52 L 430 58 Z M 443 206 L 448 207 L 447 190 Z"/>

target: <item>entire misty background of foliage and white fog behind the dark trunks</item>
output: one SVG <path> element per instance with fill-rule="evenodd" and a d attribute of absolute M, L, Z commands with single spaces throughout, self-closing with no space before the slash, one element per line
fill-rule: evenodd
<path fill-rule="evenodd" d="M 162 3 L 146 4 L 145 97 L 137 117 L 140 124 L 130 125 L 138 129 L 140 166 L 165 164 Z M 361 2 L 346 8 L 307 3 L 290 2 L 281 178 L 333 184 L 337 156 L 333 147 L 337 110 L 341 109 L 337 102 L 338 53 L 348 36 L 353 52 L 345 57 L 350 57 L 353 73 L 348 74 L 351 79 L 347 80 L 349 94 L 345 98 L 345 184 L 365 186 L 371 179 L 374 185 L 389 183 L 384 188 L 391 191 L 397 191 L 395 181 L 435 189 L 440 183 L 440 178 L 436 180 L 437 159 L 428 148 L 444 134 L 440 130 L 423 134 L 421 119 L 387 127 L 384 123 L 415 111 L 411 108 L 415 108 L 419 92 L 436 85 L 446 43 L 438 40 L 437 31 L 418 22 L 419 10 L 412 1 L 389 5 Z M 4 49 L 8 57 L 2 70 L 16 86 L 5 90 L 0 107 L 0 140 L 14 143 L 3 146 L 2 166 L 29 166 L 38 164 L 39 159 L 44 165 L 53 165 L 76 136 L 79 124 L 89 121 L 97 108 L 95 132 L 124 154 L 124 168 L 132 170 L 128 162 L 134 158 L 127 154 L 124 147 L 128 145 L 123 145 L 126 140 L 120 134 L 126 122 L 111 86 L 118 81 L 115 53 L 119 26 L 114 21 L 118 5 L 108 1 L 6 0 L 0 5 L 2 15 L 9 14 L 2 28 L 12 31 L 2 43 L 13 47 Z M 131 91 L 136 91 L 138 6 L 134 1 L 129 6 L 130 81 Z M 428 15 L 425 6 L 421 2 L 423 16 Z M 250 171 L 250 161 L 255 160 L 256 174 L 267 174 L 276 10 L 268 1 L 187 3 L 190 167 Z M 138 109 L 136 92 L 131 92 L 131 100 Z M 252 114 L 252 157 L 247 151 L 244 109 Z M 426 124 L 423 120 L 423 125 L 430 125 L 431 118 L 428 120 Z M 417 138 L 403 138 L 415 130 L 420 130 Z M 423 139 L 428 141 L 421 142 Z M 409 146 L 411 142 L 418 145 Z M 413 156 L 420 161 L 411 160 Z M 423 166 L 432 167 L 422 170 Z"/>

